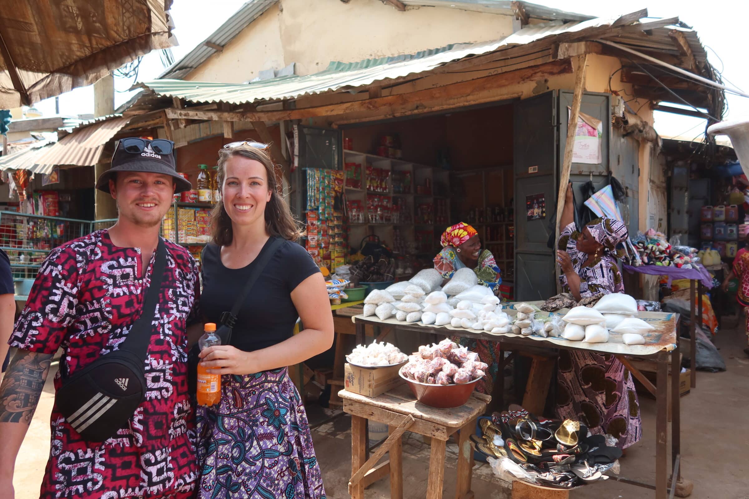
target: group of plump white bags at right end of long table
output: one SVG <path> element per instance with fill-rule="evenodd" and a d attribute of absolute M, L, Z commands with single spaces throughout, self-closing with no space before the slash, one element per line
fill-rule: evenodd
<path fill-rule="evenodd" d="M 622 334 L 622 341 L 627 345 L 642 345 L 645 343 L 643 334 L 653 329 L 652 325 L 637 319 L 637 301 L 622 293 L 604 295 L 592 307 L 574 307 L 562 320 L 567 322 L 562 337 L 587 343 L 606 343 L 609 331 L 613 331 Z"/>

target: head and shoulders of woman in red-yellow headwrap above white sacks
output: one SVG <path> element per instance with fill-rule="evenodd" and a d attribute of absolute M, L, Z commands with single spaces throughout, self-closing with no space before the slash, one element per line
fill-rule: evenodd
<path fill-rule="evenodd" d="M 476 229 L 463 222 L 447 227 L 440 238 L 442 251 L 434 257 L 434 269 L 445 279 L 452 279 L 455 271 L 468 267 L 476 272 L 479 284 L 500 293 L 502 275 L 494 255 L 485 249 L 481 251 L 481 240 Z"/>

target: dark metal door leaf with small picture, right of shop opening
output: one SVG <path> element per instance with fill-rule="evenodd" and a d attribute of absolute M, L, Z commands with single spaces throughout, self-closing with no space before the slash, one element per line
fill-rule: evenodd
<path fill-rule="evenodd" d="M 515 102 L 515 299 L 545 300 L 556 294 L 549 220 L 557 206 L 557 93 Z M 534 218 L 527 201 L 544 200 L 545 216 Z M 529 219 L 530 218 L 530 219 Z"/>

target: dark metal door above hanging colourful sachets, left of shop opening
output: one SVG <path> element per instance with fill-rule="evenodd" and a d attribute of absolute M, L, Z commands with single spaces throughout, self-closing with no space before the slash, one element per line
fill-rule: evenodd
<path fill-rule="evenodd" d="M 306 199 L 305 168 L 340 170 L 343 165 L 341 130 L 315 126 L 294 126 L 294 167 L 291 173 L 291 212 L 303 219 Z"/>

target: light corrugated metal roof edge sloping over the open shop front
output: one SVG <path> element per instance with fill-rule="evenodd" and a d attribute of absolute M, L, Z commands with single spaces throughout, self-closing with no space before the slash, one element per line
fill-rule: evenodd
<path fill-rule="evenodd" d="M 179 97 L 190 102 L 228 102 L 243 104 L 259 100 L 294 99 L 306 94 L 322 94 L 342 88 L 358 88 L 384 79 L 395 79 L 414 73 L 433 70 L 450 61 L 472 55 L 494 52 L 509 46 L 533 43 L 560 34 L 584 38 L 598 32 L 596 28 L 612 25 L 619 17 L 605 17 L 581 22 L 551 21 L 529 25 L 502 40 L 481 43 L 461 43 L 443 49 L 401 55 L 396 58 L 367 59 L 357 63 L 332 62 L 327 70 L 307 76 L 281 76 L 249 84 L 216 82 L 185 82 L 181 80 L 153 80 L 142 84 L 159 96 Z M 640 23 L 643 29 L 662 28 L 674 19 L 658 19 Z M 570 38 L 570 37 L 568 37 Z M 618 38 L 617 38 L 618 40 Z"/>

